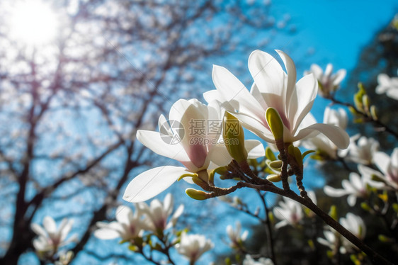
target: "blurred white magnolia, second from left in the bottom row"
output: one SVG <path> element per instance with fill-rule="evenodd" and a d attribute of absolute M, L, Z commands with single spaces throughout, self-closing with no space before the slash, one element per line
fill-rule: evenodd
<path fill-rule="evenodd" d="M 97 222 L 99 229 L 94 232 L 94 235 L 99 239 L 115 239 L 120 237 L 123 241 L 130 241 L 136 237 L 141 237 L 144 232 L 143 229 L 147 228 L 141 216 L 139 210 L 132 213 L 129 207 L 120 205 L 116 209 L 116 221 L 109 223 Z"/>

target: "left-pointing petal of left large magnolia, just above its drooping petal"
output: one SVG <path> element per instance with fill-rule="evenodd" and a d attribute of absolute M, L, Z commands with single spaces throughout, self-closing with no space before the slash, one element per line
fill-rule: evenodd
<path fill-rule="evenodd" d="M 166 137 L 151 130 L 137 130 L 137 139 L 153 152 L 180 162 L 189 161 L 189 157 L 180 143 L 171 145 L 171 137 Z"/>

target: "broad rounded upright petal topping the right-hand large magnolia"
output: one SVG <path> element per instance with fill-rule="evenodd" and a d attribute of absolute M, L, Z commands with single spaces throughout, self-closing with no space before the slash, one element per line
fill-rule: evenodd
<path fill-rule="evenodd" d="M 261 93 L 276 94 L 279 103 L 285 103 L 285 72 L 272 55 L 261 50 L 251 52 L 249 71 Z"/>

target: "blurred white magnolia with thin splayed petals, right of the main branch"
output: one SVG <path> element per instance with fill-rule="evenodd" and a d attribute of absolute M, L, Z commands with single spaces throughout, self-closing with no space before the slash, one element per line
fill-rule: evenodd
<path fill-rule="evenodd" d="M 373 181 L 370 171 L 363 165 L 358 165 L 358 171 L 360 175 L 356 172 L 350 173 L 350 180 L 343 179 L 341 181 L 341 186 L 343 188 L 332 188 L 331 186 L 324 186 L 324 192 L 326 195 L 331 197 L 341 197 L 346 196 L 348 204 L 353 206 L 356 204 L 356 198 L 368 198 L 369 192 L 367 185 L 373 186 L 375 188 L 383 188 L 384 183 L 380 181 Z"/>

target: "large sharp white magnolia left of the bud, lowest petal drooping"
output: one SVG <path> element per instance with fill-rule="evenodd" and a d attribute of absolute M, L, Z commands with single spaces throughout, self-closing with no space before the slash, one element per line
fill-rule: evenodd
<path fill-rule="evenodd" d="M 147 201 L 169 188 L 183 175 L 198 174 L 201 178 L 207 179 L 207 169 L 229 164 L 232 157 L 225 145 L 218 141 L 221 132 L 214 131 L 220 130 L 222 115 L 215 102 L 205 105 L 196 99 L 189 101 L 180 99 L 174 103 L 169 113 L 169 120 L 174 125 L 180 125 L 177 128 L 180 133 L 178 141 L 168 142 L 176 135 L 172 131 L 173 125 L 170 127 L 164 115 L 159 118 L 161 133 L 138 130 L 137 139 L 143 145 L 164 157 L 176 159 L 184 167 L 165 166 L 144 171 L 128 184 L 123 199 L 129 202 Z M 214 122 L 220 124 L 214 126 Z M 264 155 L 261 142 L 246 140 L 245 147 L 248 158 Z M 191 181 L 187 178 L 184 180 Z"/>

